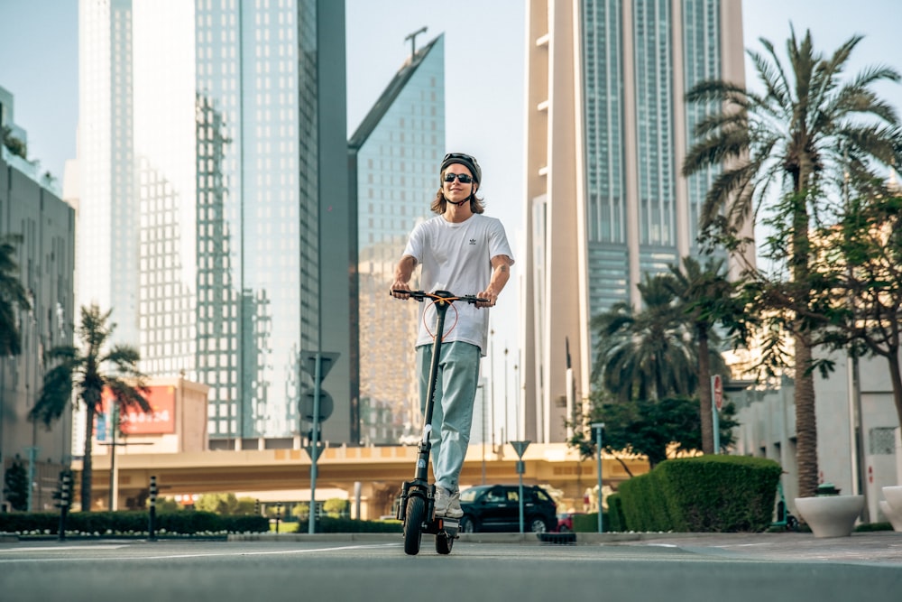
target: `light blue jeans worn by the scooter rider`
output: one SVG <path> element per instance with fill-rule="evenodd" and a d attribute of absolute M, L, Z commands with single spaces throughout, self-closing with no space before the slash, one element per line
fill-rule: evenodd
<path fill-rule="evenodd" d="M 442 344 L 436 403 L 432 409 L 433 429 L 429 440 L 432 443 L 432 473 L 436 477 L 436 485 L 448 491 L 456 491 L 459 486 L 457 479 L 464 467 L 466 448 L 470 443 L 479 358 L 479 347 L 470 343 L 454 341 Z M 431 362 L 432 346 L 417 347 L 419 408 L 424 417 Z"/>

